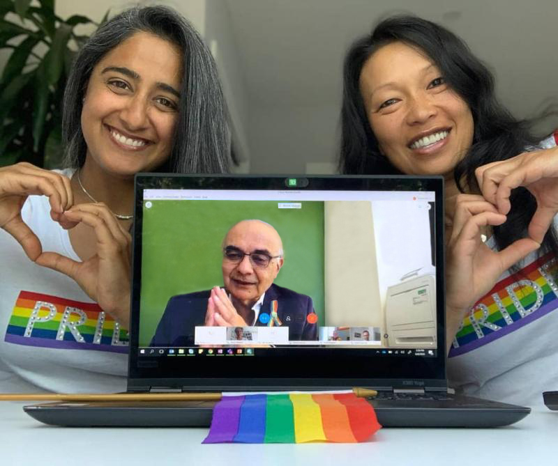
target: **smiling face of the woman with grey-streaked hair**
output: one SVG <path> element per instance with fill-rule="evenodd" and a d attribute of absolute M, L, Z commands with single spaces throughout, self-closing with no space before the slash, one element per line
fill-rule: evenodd
<path fill-rule="evenodd" d="M 172 149 L 181 76 L 179 49 L 149 33 L 135 33 L 107 53 L 85 93 L 84 168 L 128 178 L 163 164 Z"/>

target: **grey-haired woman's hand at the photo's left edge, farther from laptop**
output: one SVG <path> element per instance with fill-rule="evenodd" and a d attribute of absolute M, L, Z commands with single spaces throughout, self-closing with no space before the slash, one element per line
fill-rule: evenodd
<path fill-rule="evenodd" d="M 75 222 L 70 222 L 63 212 L 73 205 L 73 193 L 67 176 L 27 162 L 0 168 L 0 227 L 22 245 L 31 261 L 35 261 L 43 248 L 21 216 L 23 204 L 30 194 L 47 196 L 52 219 L 63 228 L 71 228 Z"/>

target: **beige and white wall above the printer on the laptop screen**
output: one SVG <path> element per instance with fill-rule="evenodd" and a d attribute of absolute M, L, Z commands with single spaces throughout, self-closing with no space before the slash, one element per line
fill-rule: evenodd
<path fill-rule="evenodd" d="M 418 200 L 325 203 L 326 325 L 384 327 L 388 287 L 413 270 L 432 273 L 429 209 Z"/>

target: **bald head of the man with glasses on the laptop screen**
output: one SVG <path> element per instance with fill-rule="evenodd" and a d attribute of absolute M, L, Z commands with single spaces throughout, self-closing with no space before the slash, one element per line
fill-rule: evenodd
<path fill-rule="evenodd" d="M 262 220 L 243 220 L 232 226 L 223 240 L 224 251 L 235 251 L 240 261 L 223 256 L 223 282 L 232 297 L 252 306 L 273 284 L 283 265 L 279 233 Z M 243 255 L 243 256 L 242 256 Z M 269 258 L 267 265 L 262 258 Z"/>

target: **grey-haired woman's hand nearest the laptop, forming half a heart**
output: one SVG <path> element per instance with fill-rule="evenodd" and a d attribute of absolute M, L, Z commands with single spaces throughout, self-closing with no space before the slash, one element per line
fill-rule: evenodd
<path fill-rule="evenodd" d="M 129 329 L 130 233 L 104 203 L 73 205 L 63 216 L 70 222 L 82 222 L 93 228 L 97 239 L 96 254 L 77 262 L 61 254 L 43 252 L 36 263 L 74 279 L 103 311 Z"/>

